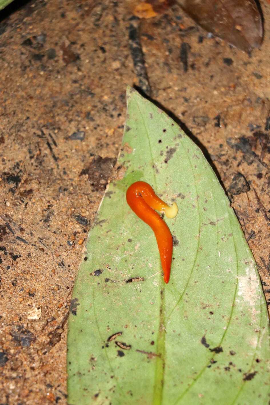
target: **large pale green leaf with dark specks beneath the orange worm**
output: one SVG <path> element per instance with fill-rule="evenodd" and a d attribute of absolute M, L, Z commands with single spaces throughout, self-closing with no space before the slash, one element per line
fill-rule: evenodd
<path fill-rule="evenodd" d="M 178 125 L 135 90 L 127 98 L 124 178 L 105 193 L 73 290 L 69 404 L 265 405 L 266 302 L 234 211 Z M 137 180 L 179 207 L 165 218 L 168 284 L 154 233 L 126 203 Z"/>

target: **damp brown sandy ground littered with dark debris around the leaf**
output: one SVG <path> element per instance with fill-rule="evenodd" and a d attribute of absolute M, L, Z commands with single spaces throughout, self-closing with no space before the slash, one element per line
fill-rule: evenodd
<path fill-rule="evenodd" d="M 270 303 L 270 18 L 261 5 L 265 38 L 251 56 L 177 6 L 137 33 L 148 90 L 219 173 Z M 120 148 L 126 85 L 142 79 L 122 2 L 37 0 L 2 17 L 0 403 L 66 404 L 71 290 Z"/>

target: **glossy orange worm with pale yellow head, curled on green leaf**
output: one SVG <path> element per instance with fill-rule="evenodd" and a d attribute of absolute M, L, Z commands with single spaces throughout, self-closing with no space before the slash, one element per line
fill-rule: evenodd
<path fill-rule="evenodd" d="M 152 187 L 144 181 L 136 181 L 129 186 L 126 191 L 126 201 L 135 214 L 154 231 L 159 248 L 164 281 L 168 283 L 171 273 L 173 239 L 167 224 L 156 211 L 165 213 L 168 218 L 174 218 L 178 213 L 176 203 L 173 203 L 169 207 L 155 194 Z"/>

